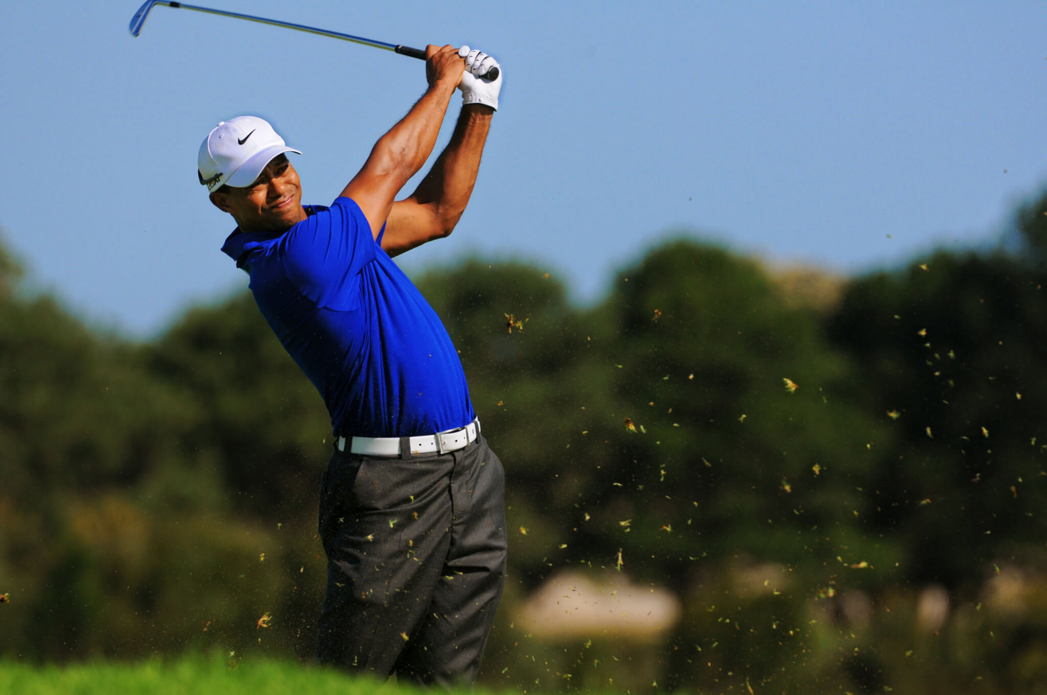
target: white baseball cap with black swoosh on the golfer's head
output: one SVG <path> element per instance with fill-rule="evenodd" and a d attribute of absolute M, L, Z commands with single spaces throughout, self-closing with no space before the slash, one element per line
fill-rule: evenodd
<path fill-rule="evenodd" d="M 249 186 L 273 157 L 285 152 L 302 153 L 287 147 L 264 118 L 237 116 L 215 127 L 200 145 L 197 175 L 214 193 L 223 185 Z"/>

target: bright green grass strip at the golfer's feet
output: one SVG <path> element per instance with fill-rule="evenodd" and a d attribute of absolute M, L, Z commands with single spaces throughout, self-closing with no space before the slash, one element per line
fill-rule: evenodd
<path fill-rule="evenodd" d="M 423 692 L 408 685 L 353 678 L 331 669 L 280 660 L 233 663 L 221 656 L 187 656 L 69 666 L 0 662 L 0 695 L 419 695 Z"/>

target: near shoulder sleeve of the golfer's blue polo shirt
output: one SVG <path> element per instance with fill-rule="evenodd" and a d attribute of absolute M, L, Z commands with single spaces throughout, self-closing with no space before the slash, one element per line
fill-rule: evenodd
<path fill-rule="evenodd" d="M 359 304 L 360 271 L 378 245 L 360 206 L 338 198 L 291 228 L 281 244 L 284 270 L 318 307 L 350 311 Z"/>

